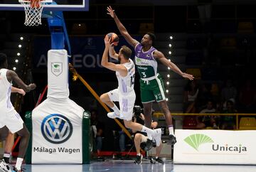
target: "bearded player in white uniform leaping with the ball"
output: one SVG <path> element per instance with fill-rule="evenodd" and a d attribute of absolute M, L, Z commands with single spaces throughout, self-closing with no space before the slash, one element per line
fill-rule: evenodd
<path fill-rule="evenodd" d="M 111 58 L 119 60 L 120 64 L 110 63 L 108 53 L 110 53 Z M 105 38 L 105 50 L 101 65 L 116 71 L 118 88 L 101 95 L 100 100 L 114 110 L 114 112 L 108 113 L 107 117 L 123 119 L 125 127 L 134 131 L 146 132 L 149 139 L 155 139 L 156 145 L 160 145 L 161 129 L 153 130 L 144 127 L 142 124 L 132 122 L 136 95 L 134 92 L 135 67 L 133 61 L 129 58 L 131 55 L 132 50 L 125 45 L 122 46 L 118 54 L 115 53 L 113 45 L 110 44 L 110 38 Z M 114 102 L 119 102 L 120 109 L 117 108 Z"/>

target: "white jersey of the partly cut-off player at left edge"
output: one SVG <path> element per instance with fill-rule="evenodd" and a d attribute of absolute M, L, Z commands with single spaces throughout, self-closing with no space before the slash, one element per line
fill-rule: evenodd
<path fill-rule="evenodd" d="M 11 83 L 7 80 L 7 69 L 0 70 L 0 109 L 4 112 L 10 112 L 14 109 L 11 104 Z"/>

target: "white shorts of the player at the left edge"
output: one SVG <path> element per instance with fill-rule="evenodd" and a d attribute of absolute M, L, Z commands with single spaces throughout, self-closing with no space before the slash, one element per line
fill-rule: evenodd
<path fill-rule="evenodd" d="M 0 112 L 0 128 L 6 126 L 11 133 L 23 129 L 23 120 L 15 109 L 11 109 L 9 112 Z"/>

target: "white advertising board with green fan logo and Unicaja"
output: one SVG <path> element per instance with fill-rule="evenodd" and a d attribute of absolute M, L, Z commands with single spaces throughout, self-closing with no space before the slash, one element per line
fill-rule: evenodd
<path fill-rule="evenodd" d="M 256 164 L 256 131 L 176 129 L 174 163 Z"/>

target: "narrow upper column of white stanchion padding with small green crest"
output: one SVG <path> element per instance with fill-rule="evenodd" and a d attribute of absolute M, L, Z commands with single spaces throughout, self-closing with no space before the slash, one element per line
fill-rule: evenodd
<path fill-rule="evenodd" d="M 48 92 L 47 97 L 66 98 L 68 90 L 67 50 L 48 50 Z"/>

